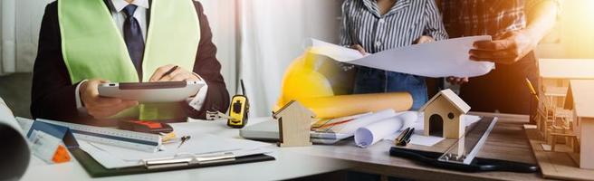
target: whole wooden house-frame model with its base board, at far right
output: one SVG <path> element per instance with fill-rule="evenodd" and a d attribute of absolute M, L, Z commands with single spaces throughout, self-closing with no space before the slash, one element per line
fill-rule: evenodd
<path fill-rule="evenodd" d="M 524 130 L 542 176 L 592 180 L 594 60 L 541 59 L 538 64 L 538 99 L 532 100 L 538 102 L 538 114 Z"/>

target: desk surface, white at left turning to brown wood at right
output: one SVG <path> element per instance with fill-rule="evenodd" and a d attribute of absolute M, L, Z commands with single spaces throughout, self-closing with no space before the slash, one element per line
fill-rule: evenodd
<path fill-rule="evenodd" d="M 477 115 L 484 115 L 476 113 Z M 530 151 L 523 124 L 527 116 L 497 115 L 500 117 L 493 132 L 487 139 L 478 157 L 499 158 L 525 163 L 535 163 Z M 265 119 L 252 119 L 250 124 Z M 225 122 L 198 121 L 181 123 L 185 127 L 196 127 L 218 136 L 238 138 L 238 129 L 226 129 Z M 162 172 L 134 176 L 105 177 L 116 180 L 278 180 L 299 176 L 311 176 L 350 167 L 352 170 L 381 174 L 385 176 L 407 177 L 417 180 L 539 180 L 540 174 L 517 174 L 508 172 L 488 172 L 469 174 L 464 172 L 436 169 L 419 165 L 416 162 L 389 157 L 391 142 L 380 141 L 369 148 L 355 147 L 352 139 L 340 141 L 334 146 L 314 145 L 303 148 L 277 148 L 273 154 L 276 161 L 243 164 L 225 167 L 208 167 L 174 172 Z M 446 144 L 436 145 L 436 149 L 446 149 Z M 435 150 L 437 151 L 437 150 Z M 35 161 L 33 161 L 35 162 Z M 63 174 L 60 174 L 63 173 Z M 73 161 L 71 163 L 47 166 L 33 164 L 25 173 L 23 180 L 87 180 L 89 175 Z"/>

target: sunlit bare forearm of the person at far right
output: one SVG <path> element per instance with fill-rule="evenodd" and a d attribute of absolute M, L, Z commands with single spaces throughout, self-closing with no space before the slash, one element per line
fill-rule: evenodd
<path fill-rule="evenodd" d="M 536 43 L 547 35 L 557 21 L 557 4 L 553 1 L 543 1 L 535 5 L 531 11 L 527 11 L 528 24 L 525 31 L 527 31 L 532 40 Z"/>

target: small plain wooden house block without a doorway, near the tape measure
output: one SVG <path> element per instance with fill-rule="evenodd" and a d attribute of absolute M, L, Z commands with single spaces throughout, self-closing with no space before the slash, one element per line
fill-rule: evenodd
<path fill-rule="evenodd" d="M 274 112 L 273 119 L 279 122 L 279 147 L 310 146 L 310 129 L 315 114 L 292 100 L 281 110 Z"/>

